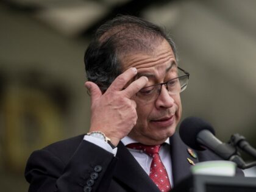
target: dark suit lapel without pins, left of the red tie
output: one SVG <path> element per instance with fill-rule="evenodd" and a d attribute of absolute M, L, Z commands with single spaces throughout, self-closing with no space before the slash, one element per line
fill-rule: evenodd
<path fill-rule="evenodd" d="M 119 158 L 115 178 L 125 183 L 137 192 L 152 191 L 158 192 L 158 188 L 149 178 L 148 174 L 141 168 L 137 160 L 130 154 L 123 143 L 118 144 L 116 157 Z"/>

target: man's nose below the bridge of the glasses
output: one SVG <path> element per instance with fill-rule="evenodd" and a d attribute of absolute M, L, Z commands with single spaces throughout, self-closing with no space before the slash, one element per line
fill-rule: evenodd
<path fill-rule="evenodd" d="M 166 86 L 162 86 L 155 105 L 158 109 L 160 108 L 170 108 L 174 105 L 174 99 L 169 94 Z"/>

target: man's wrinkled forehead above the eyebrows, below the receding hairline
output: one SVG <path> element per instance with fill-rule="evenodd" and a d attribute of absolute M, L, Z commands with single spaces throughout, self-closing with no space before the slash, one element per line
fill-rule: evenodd
<path fill-rule="evenodd" d="M 152 52 L 133 52 L 123 57 L 122 71 L 130 67 L 138 70 L 138 76 L 163 76 L 166 70 L 177 66 L 174 53 L 166 40 L 158 44 Z"/>

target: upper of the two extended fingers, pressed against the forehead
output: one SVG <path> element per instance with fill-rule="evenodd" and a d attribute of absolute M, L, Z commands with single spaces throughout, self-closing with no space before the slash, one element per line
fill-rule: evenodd
<path fill-rule="evenodd" d="M 109 91 L 120 91 L 123 90 L 124 86 L 137 74 L 137 69 L 132 67 L 124 71 L 121 75 L 116 77 L 116 79 L 112 82 Z"/>

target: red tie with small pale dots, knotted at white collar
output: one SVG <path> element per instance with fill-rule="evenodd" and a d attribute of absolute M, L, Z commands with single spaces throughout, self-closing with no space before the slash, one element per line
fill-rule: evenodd
<path fill-rule="evenodd" d="M 167 192 L 171 190 L 171 184 L 165 166 L 158 154 L 160 147 L 160 145 L 149 146 L 141 143 L 127 144 L 127 148 L 143 150 L 146 154 L 152 157 L 149 177 L 154 181 L 160 191 Z"/>

